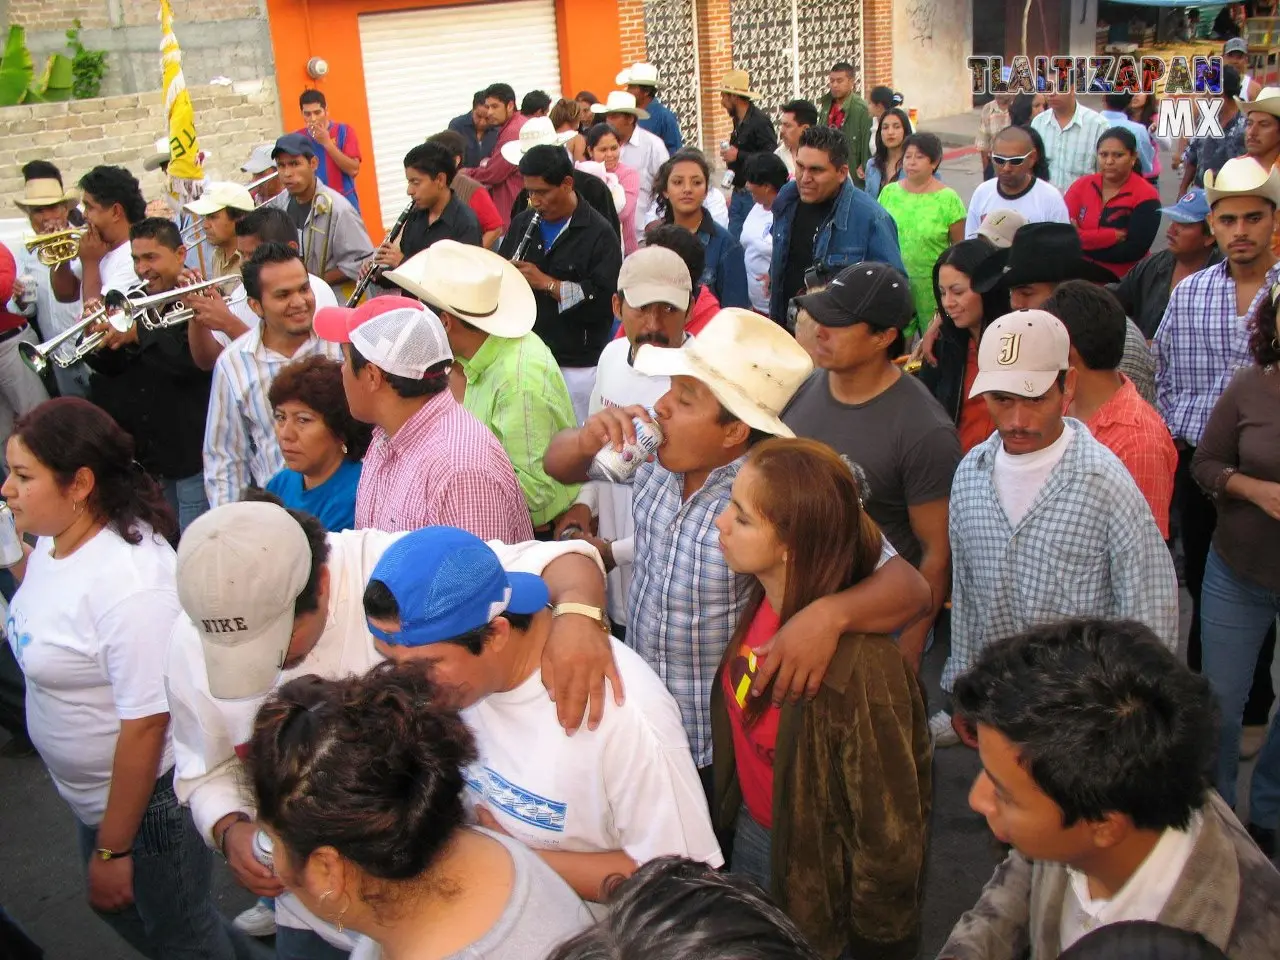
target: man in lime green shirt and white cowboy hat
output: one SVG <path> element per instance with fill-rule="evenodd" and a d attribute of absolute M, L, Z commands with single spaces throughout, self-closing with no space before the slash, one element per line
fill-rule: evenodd
<path fill-rule="evenodd" d="M 534 534 L 549 534 L 577 486 L 547 476 L 543 453 L 576 419 L 556 357 L 532 332 L 538 305 L 529 282 L 497 253 L 452 239 L 434 243 L 384 279 L 440 317 L 461 369 L 454 389 L 463 389 L 463 410 L 511 457 Z"/>

